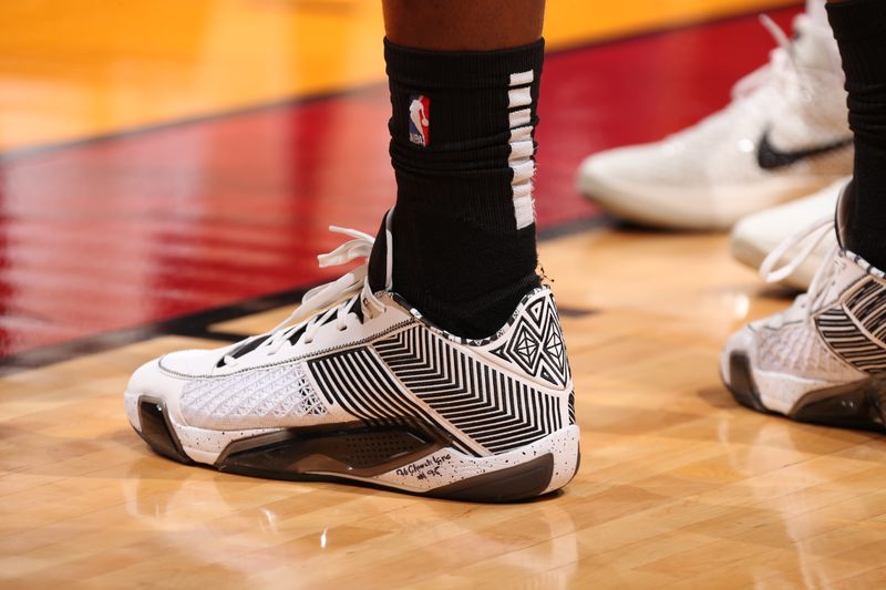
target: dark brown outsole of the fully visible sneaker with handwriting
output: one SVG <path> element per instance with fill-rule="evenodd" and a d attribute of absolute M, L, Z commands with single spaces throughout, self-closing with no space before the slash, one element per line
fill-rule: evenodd
<path fill-rule="evenodd" d="M 287 436 L 287 433 L 284 432 L 275 433 L 275 435 L 268 437 L 235 441 L 223 451 L 214 465 L 209 465 L 194 462 L 184 452 L 175 434 L 175 428 L 169 422 L 168 413 L 162 400 L 150 396 L 140 397 L 138 415 L 142 431 L 136 432 L 156 454 L 185 465 L 212 468 L 223 473 L 289 482 L 347 484 L 350 486 L 383 489 L 420 497 L 471 503 L 519 503 L 558 493 L 555 490 L 543 495 L 555 476 L 554 456 L 549 453 L 535 457 L 521 465 L 515 465 L 514 467 L 470 477 L 461 482 L 434 488 L 426 493 L 416 493 L 343 475 L 303 473 L 300 470 L 300 468 L 303 468 L 305 460 L 308 460 L 315 468 L 318 465 L 318 460 L 323 460 L 322 457 L 318 459 L 320 454 L 317 453 L 318 449 L 323 448 L 323 441 L 334 439 L 337 443 L 340 443 L 341 437 L 352 435 L 353 431 L 342 432 L 336 429 L 333 433 L 319 433 L 308 438 L 296 434 Z M 362 429 L 359 431 L 358 434 L 365 434 L 368 431 Z M 379 436 L 384 433 L 384 436 L 388 438 L 395 432 L 401 439 L 405 439 L 402 431 L 387 429 L 374 432 L 377 432 Z M 412 442 L 410 448 L 404 449 L 403 453 L 398 455 L 398 463 L 400 464 L 409 463 L 413 460 L 413 458 L 420 458 L 421 456 L 432 453 L 435 448 L 441 448 L 439 441 L 421 441 L 421 433 L 411 434 L 413 438 L 418 438 L 419 441 Z M 326 438 L 323 436 L 326 436 Z M 425 446 L 422 446 L 422 444 Z M 340 455 L 341 448 L 337 448 L 336 451 Z M 341 457 L 330 459 L 326 457 L 326 460 L 338 462 L 340 458 Z M 348 458 L 350 459 L 351 457 Z M 390 459 L 390 457 L 387 458 Z M 369 463 L 371 463 L 371 457 L 369 457 Z M 302 462 L 301 466 L 299 462 Z M 364 460 L 363 463 L 367 462 Z M 381 466 L 379 473 L 391 469 L 390 460 L 382 462 L 379 465 Z M 336 463 L 336 466 L 341 467 L 342 464 Z M 354 468 L 352 465 L 348 464 L 344 465 L 344 468 L 357 475 L 367 473 L 368 466 L 358 464 Z M 577 472 L 578 465 L 576 465 L 576 473 Z M 575 476 L 575 474 L 573 474 L 573 476 Z"/>

